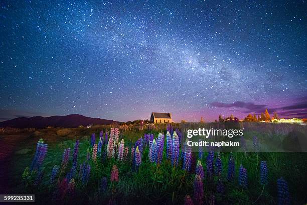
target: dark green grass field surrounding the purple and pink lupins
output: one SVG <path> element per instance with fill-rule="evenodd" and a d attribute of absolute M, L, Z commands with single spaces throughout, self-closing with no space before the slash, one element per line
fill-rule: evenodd
<path fill-rule="evenodd" d="M 180 125 L 175 125 L 175 127 Z M 202 180 L 204 204 L 280 204 L 278 203 L 278 189 L 276 181 L 283 177 L 288 183 L 290 204 L 305 204 L 307 196 L 307 154 L 306 152 L 233 152 L 235 162 L 235 176 L 227 180 L 229 152 L 220 153 L 222 161 L 221 176 L 213 174 L 208 178 L 208 152 L 202 158 L 198 153 L 192 153 L 190 171 L 183 169 L 182 147 L 180 148 L 179 164 L 172 166 L 167 159 L 167 140 L 164 142 L 163 160 L 160 164 L 149 161 L 149 145 L 143 142 L 141 163 L 135 166 L 131 147 L 135 150 L 135 141 L 145 133 L 154 134 L 157 138 L 160 131 L 167 132 L 164 127 L 154 129 L 120 128 L 119 142 L 123 138 L 129 153 L 124 160 L 118 161 L 116 157 L 103 157 L 107 152 L 107 145 L 102 146 L 101 157 L 93 160 L 93 146 L 91 134 L 96 134 L 95 143 L 98 143 L 101 130 L 110 131 L 111 126 L 97 126 L 91 129 L 46 129 L 34 133 L 19 135 L 3 135 L 0 138 L 2 148 L 2 183 L 7 193 L 35 193 L 38 204 L 184 204 L 185 196 L 189 194 L 195 201 L 195 169 L 200 160 L 205 177 Z M 165 126 L 166 128 L 166 126 Z M 271 129 L 271 128 L 270 128 Z M 290 129 L 290 128 L 289 128 Z M 267 133 L 271 133 L 268 130 Z M 283 131 L 284 132 L 284 131 Z M 255 130 L 244 137 L 248 140 L 252 135 L 257 135 Z M 275 133 L 276 134 L 276 133 Z M 258 132 L 261 139 L 262 131 Z M 286 135 L 286 133 L 278 133 Z M 42 177 L 37 177 L 39 171 L 29 172 L 22 177 L 26 167 L 30 167 L 35 154 L 37 141 L 43 138 L 48 144 L 48 152 L 39 170 Z M 143 137 L 144 138 L 144 137 Z M 77 168 L 73 177 L 75 183 L 72 191 L 67 191 L 69 186 L 64 182 L 67 173 L 73 164 L 73 152 L 76 140 L 80 140 Z M 53 183 L 50 183 L 54 165 L 61 166 L 64 149 L 70 148 L 67 167 L 59 171 Z M 87 150 L 90 159 L 87 160 Z M 7 153 L 7 154 L 4 154 Z M 218 153 L 214 153 L 213 169 L 216 167 Z M 82 182 L 80 177 L 80 164 L 88 163 L 91 167 L 87 182 Z M 266 161 L 268 169 L 267 184 L 260 183 L 260 161 Z M 110 181 L 113 165 L 118 168 L 118 181 Z M 239 167 L 243 165 L 247 170 L 247 186 L 243 187 L 239 181 Z M 207 167 L 208 166 L 208 167 Z M 210 170 L 209 170 L 210 171 Z M 106 177 L 106 178 L 104 178 Z M 39 179 L 38 179 L 39 178 Z M 217 190 L 217 181 L 221 178 L 224 192 Z M 106 181 L 105 181 L 106 180 Z M 67 181 L 68 183 L 69 181 Z M 107 186 L 104 186 L 104 183 Z M 63 188 L 64 187 L 64 188 Z M 263 191 L 262 191 L 263 189 Z"/>

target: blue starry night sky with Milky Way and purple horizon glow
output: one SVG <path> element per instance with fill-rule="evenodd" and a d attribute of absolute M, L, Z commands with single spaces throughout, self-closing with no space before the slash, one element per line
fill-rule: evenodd
<path fill-rule="evenodd" d="M 307 117 L 304 1 L 1 1 L 0 121 Z"/>

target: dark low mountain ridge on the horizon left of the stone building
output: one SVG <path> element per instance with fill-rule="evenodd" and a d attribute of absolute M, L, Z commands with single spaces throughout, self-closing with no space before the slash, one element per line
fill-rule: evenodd
<path fill-rule="evenodd" d="M 85 117 L 83 115 L 73 114 L 66 116 L 51 116 L 51 117 L 18 117 L 12 120 L 0 122 L 0 127 L 13 127 L 13 128 L 29 128 L 35 127 L 38 129 L 53 127 L 74 128 L 79 125 L 87 126 L 90 124 L 103 124 L 108 125 L 117 123 L 117 121 L 106 120 L 100 118 Z"/>

